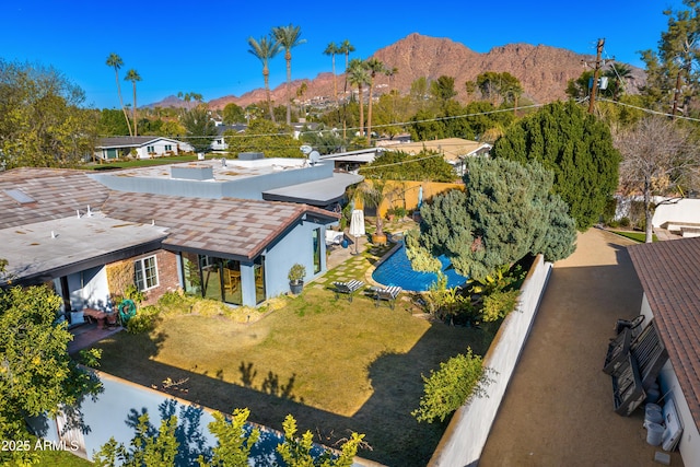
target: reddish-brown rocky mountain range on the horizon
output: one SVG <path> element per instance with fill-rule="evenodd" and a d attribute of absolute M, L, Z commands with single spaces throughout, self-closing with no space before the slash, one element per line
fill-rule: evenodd
<path fill-rule="evenodd" d="M 509 44 L 480 54 L 448 38 L 429 37 L 417 33 L 377 50 L 373 57 L 383 61 L 387 68 L 398 70 L 390 83 L 387 77 L 377 77 L 376 92 L 388 92 L 390 87 L 406 94 L 410 91 L 411 83 L 418 78 L 436 80 L 441 75 L 447 75 L 455 79 L 457 100 L 462 102 L 466 102 L 468 97 L 464 83 L 474 81 L 477 75 L 486 71 L 508 71 L 513 74 L 521 81 L 524 96 L 535 103 L 565 98 L 567 82 L 579 78 L 586 69 L 585 67 L 591 69 L 595 62 L 595 56 L 545 45 Z M 337 57 L 336 67 L 337 69 L 345 67 L 342 56 Z M 630 68 L 632 73 L 628 80 L 628 92 L 634 93 L 634 90 L 644 83 L 644 72 L 639 68 Z M 306 98 L 334 100 L 331 72 L 319 73 L 312 80 L 295 80 L 292 82 L 292 89 L 296 90 L 304 81 L 308 86 L 305 93 Z M 342 92 L 343 84 L 343 75 L 339 74 L 339 92 Z M 282 103 L 285 100 L 285 85 L 282 83 L 271 90 L 272 100 Z M 229 103 L 245 107 L 264 101 L 265 90 L 260 87 L 241 96 L 214 98 L 209 102 L 209 107 L 221 109 Z"/>

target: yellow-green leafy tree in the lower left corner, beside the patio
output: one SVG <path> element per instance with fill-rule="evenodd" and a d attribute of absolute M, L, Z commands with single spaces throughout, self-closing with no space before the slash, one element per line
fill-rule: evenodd
<path fill-rule="evenodd" d="M 5 261 L 0 261 L 5 264 Z M 0 264 L 0 273 L 4 267 Z M 0 437 L 28 440 L 25 419 L 69 417 L 85 396 L 102 390 L 100 380 L 68 354 L 72 335 L 66 322 L 57 324 L 61 299 L 45 285 L 0 289 Z M 95 365 L 100 353 L 83 352 Z M 69 418 L 71 427 L 81 420 Z M 22 465 L 31 454 L 0 451 L 0 463 Z"/>

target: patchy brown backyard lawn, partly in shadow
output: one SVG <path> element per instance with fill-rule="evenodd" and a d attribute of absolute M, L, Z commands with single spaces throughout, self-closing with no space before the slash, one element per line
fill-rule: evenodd
<path fill-rule="evenodd" d="M 372 450 L 361 457 L 424 466 L 446 422 L 410 416 L 421 374 L 467 347 L 483 354 L 491 337 L 412 316 L 405 303 L 375 308 L 310 287 L 256 323 L 170 315 L 150 335 L 120 332 L 98 347 L 107 373 L 224 412 L 247 407 L 250 421 L 278 430 L 292 413 L 327 445 L 365 433 Z M 166 378 L 185 382 L 164 388 Z"/>

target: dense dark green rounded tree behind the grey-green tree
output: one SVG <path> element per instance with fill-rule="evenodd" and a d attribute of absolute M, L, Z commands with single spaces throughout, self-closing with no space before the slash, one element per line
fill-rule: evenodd
<path fill-rule="evenodd" d="M 569 205 L 576 227 L 598 221 L 618 185 L 620 154 L 608 127 L 575 102 L 555 102 L 510 126 L 493 157 L 539 161 L 555 174 L 555 192 Z"/>

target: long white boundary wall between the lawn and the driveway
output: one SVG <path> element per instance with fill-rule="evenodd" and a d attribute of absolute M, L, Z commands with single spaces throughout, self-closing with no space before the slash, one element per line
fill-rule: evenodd
<path fill-rule="evenodd" d="M 521 289 L 517 308 L 503 320 L 483 359 L 483 365 L 495 371 L 488 375 L 493 380 L 486 388 L 489 397 L 476 398 L 457 409 L 430 459 L 430 467 L 464 467 L 478 463 L 527 341 L 551 266 L 544 261 L 541 255 L 537 256 Z"/>

